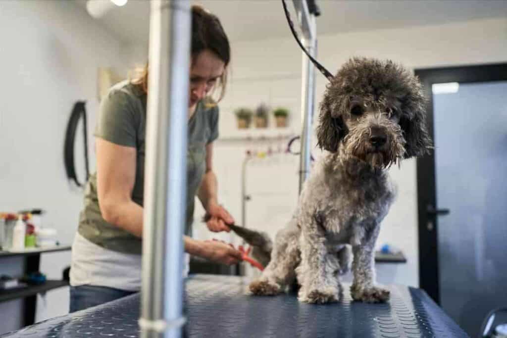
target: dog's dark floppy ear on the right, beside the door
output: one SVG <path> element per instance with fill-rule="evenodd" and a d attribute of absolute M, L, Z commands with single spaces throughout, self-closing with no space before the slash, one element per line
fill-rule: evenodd
<path fill-rule="evenodd" d="M 400 127 L 405 138 L 405 158 L 429 153 L 431 139 L 426 127 L 426 99 L 416 77 L 409 83 L 409 92 L 402 99 Z"/>

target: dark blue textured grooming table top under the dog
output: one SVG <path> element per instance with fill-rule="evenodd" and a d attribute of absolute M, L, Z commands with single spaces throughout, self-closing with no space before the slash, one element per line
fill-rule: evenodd
<path fill-rule="evenodd" d="M 428 295 L 390 286 L 387 304 L 299 303 L 295 294 L 254 297 L 242 277 L 194 275 L 186 281 L 190 337 L 466 337 Z M 139 294 L 8 333 L 3 337 L 137 337 Z"/>

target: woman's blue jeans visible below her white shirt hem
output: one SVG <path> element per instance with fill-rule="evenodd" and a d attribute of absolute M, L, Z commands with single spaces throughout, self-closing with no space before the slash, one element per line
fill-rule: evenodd
<path fill-rule="evenodd" d="M 80 285 L 70 287 L 70 309 L 76 312 L 128 296 L 135 291 L 114 289 L 106 286 Z"/>

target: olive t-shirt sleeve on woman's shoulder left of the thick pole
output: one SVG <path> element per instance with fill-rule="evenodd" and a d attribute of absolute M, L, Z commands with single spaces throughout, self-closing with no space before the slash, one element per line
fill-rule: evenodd
<path fill-rule="evenodd" d="M 118 145 L 135 147 L 136 113 L 132 98 L 121 90 L 111 91 L 100 102 L 95 136 Z"/>

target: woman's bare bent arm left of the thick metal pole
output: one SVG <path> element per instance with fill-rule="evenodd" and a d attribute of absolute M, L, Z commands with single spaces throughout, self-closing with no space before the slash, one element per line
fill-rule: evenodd
<path fill-rule="evenodd" d="M 96 138 L 97 194 L 102 217 L 111 224 L 142 236 L 142 207 L 132 201 L 136 149 Z"/>

